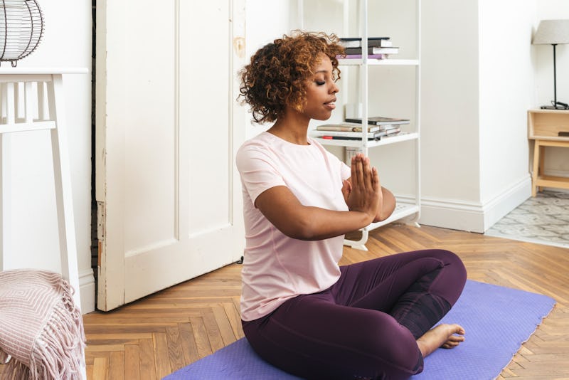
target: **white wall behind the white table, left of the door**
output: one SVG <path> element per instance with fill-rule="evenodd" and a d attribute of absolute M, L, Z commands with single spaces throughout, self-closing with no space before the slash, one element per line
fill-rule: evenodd
<path fill-rule="evenodd" d="M 91 66 L 91 1 L 39 0 L 45 33 L 38 49 L 18 67 Z M 4 63 L 8 66 L 9 63 Z M 90 70 L 89 70 L 90 71 Z M 70 143 L 73 209 L 78 245 L 82 311 L 94 310 L 91 270 L 91 76 L 64 75 L 66 120 Z M 4 269 L 60 270 L 53 166 L 48 132 L 13 134 L 11 186 L 13 252 Z"/>

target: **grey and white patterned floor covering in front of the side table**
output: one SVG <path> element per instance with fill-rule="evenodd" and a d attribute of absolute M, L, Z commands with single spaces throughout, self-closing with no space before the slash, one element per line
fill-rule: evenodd
<path fill-rule="evenodd" d="M 543 191 L 491 226 L 485 235 L 569 248 L 569 192 Z"/>

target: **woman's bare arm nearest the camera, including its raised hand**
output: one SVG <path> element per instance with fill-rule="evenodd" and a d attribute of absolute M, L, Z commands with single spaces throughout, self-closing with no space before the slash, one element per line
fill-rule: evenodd
<path fill-rule="evenodd" d="M 351 165 L 350 211 L 303 206 L 286 186 L 263 191 L 255 206 L 282 233 L 300 240 L 321 240 L 368 226 L 376 218 L 381 186 L 375 168 L 363 156 Z"/>

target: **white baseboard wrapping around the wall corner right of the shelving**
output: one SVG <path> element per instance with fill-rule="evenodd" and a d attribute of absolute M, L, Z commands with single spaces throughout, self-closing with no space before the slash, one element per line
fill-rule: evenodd
<path fill-rule="evenodd" d="M 528 176 L 484 203 L 422 198 L 419 223 L 484 233 L 530 196 L 531 178 Z"/>

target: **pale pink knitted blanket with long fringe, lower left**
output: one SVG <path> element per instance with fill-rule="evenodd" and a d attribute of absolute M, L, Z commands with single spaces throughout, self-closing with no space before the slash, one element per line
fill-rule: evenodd
<path fill-rule="evenodd" d="M 0 272 L 0 362 L 8 379 L 80 379 L 83 317 L 73 288 L 46 270 Z"/>

